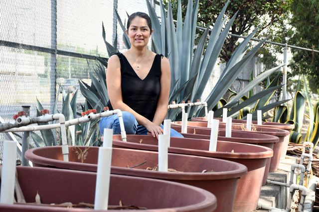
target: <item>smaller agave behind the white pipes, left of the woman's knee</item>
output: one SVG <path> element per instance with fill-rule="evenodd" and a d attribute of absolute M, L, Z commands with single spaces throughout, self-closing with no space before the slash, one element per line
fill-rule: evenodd
<path fill-rule="evenodd" d="M 66 120 L 71 120 L 77 117 L 77 115 L 81 116 L 81 114 L 77 113 L 77 93 L 76 90 L 73 94 L 72 100 L 70 101 L 70 93 L 66 94 L 63 87 L 60 86 L 57 92 L 57 98 L 54 103 L 52 114 L 60 113 L 57 110 L 57 103 L 59 99 L 60 89 L 62 90 L 62 111 L 61 113 L 65 116 Z M 38 107 L 37 107 L 37 116 L 41 116 L 40 111 L 44 108 L 42 107 L 41 103 L 37 100 Z M 96 105 L 97 107 L 97 105 Z M 82 107 L 83 111 L 88 110 L 87 103 Z M 99 111 L 99 110 L 98 110 Z M 39 125 L 48 125 L 49 123 L 39 123 Z M 101 144 L 101 135 L 98 130 L 99 120 L 95 120 L 92 123 L 86 122 L 78 125 L 73 125 L 67 127 L 67 141 L 69 145 L 86 145 L 86 146 L 98 146 Z M 61 140 L 61 133 L 59 129 L 52 129 L 52 130 L 41 130 L 41 136 L 38 136 L 36 133 L 31 133 L 31 138 L 33 139 L 35 145 L 37 147 L 40 146 L 51 146 L 51 145 L 60 145 Z"/>

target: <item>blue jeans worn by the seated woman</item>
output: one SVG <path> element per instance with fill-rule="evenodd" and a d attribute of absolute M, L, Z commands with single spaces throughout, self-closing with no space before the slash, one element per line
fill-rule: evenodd
<path fill-rule="evenodd" d="M 126 111 L 122 112 L 123 115 L 123 122 L 124 122 L 124 129 L 126 134 L 128 135 L 147 135 L 148 130 L 138 124 L 138 121 L 136 121 L 135 117 Z M 160 127 L 163 129 L 164 126 L 160 125 Z M 114 114 L 109 117 L 103 117 L 100 120 L 99 123 L 99 130 L 101 134 L 103 135 L 104 133 L 104 128 L 109 128 L 113 129 L 113 135 L 121 135 L 121 128 L 120 128 L 120 122 L 119 122 L 119 117 L 117 114 Z M 170 129 L 170 137 L 181 137 L 183 138 L 182 135 L 177 133 L 177 131 Z"/>

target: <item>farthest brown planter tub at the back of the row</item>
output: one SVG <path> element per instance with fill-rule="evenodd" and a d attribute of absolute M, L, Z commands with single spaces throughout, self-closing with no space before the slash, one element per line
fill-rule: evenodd
<path fill-rule="evenodd" d="M 221 123 L 221 121 L 223 120 L 221 118 L 214 118 L 214 119 L 218 119 L 219 123 Z M 194 122 L 206 122 L 207 123 L 207 121 L 205 120 L 204 117 L 195 117 L 195 118 L 192 118 L 191 120 L 194 121 Z M 242 124 L 246 124 L 246 120 L 233 119 L 232 123 L 242 125 Z M 291 124 L 276 123 L 276 122 L 262 122 L 262 125 L 257 125 L 257 121 L 252 121 L 252 124 L 254 124 L 256 127 L 258 126 L 258 127 L 266 127 L 266 128 L 287 130 L 289 133 L 290 133 L 290 131 L 292 129 L 295 128 L 295 126 L 291 125 Z M 290 137 L 290 135 L 285 137 L 285 140 L 284 140 L 284 143 L 283 143 L 282 152 L 281 152 L 281 156 L 280 156 L 281 160 L 285 159 L 285 157 L 286 157 L 287 147 L 288 147 L 288 144 L 289 144 L 289 137 Z"/>

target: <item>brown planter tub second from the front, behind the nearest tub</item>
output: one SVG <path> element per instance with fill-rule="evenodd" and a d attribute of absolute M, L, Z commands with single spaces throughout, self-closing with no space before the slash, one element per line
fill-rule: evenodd
<path fill-rule="evenodd" d="M 86 159 L 81 163 L 77 152 L 87 149 Z M 69 162 L 63 161 L 60 146 L 29 149 L 25 157 L 34 166 L 57 167 L 85 171 L 97 170 L 98 147 L 69 147 Z M 232 212 L 238 179 L 247 174 L 247 167 L 242 164 L 216 158 L 194 155 L 168 154 L 168 168 L 183 172 L 159 172 L 146 170 L 158 164 L 158 152 L 125 148 L 113 148 L 112 174 L 148 177 L 184 183 L 203 188 L 217 198 L 216 212 Z M 132 167 L 137 164 L 141 166 Z M 203 170 L 214 172 L 201 173 Z"/>

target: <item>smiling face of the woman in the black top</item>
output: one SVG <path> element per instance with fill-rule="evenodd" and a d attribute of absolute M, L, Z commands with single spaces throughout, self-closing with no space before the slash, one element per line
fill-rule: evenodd
<path fill-rule="evenodd" d="M 126 30 L 132 46 L 135 47 L 147 46 L 152 32 L 146 19 L 141 17 L 134 18 L 130 27 Z"/>

